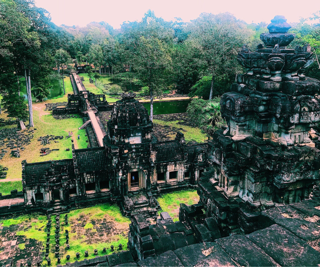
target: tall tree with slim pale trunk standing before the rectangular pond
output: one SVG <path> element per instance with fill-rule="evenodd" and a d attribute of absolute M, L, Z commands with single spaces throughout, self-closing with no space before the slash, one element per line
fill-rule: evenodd
<path fill-rule="evenodd" d="M 122 26 L 125 33 L 120 50 L 122 56 L 133 66 L 138 78 L 150 90 L 150 119 L 153 120 L 153 98 L 162 96 L 172 71 L 173 31 L 161 18 L 150 10 L 141 22 Z"/>

